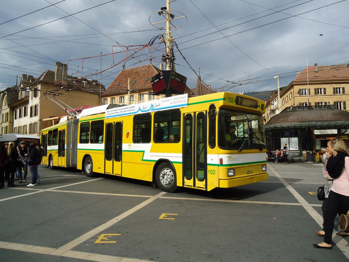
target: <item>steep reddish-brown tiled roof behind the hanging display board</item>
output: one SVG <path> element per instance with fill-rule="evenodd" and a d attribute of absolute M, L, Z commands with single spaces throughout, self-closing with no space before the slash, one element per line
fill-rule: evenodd
<path fill-rule="evenodd" d="M 110 96 L 114 94 L 125 94 L 128 92 L 128 78 L 130 78 L 130 89 L 138 92 L 152 90 L 150 78 L 154 77 L 161 70 L 152 64 L 128 68 L 122 70 L 114 79 L 102 96 Z M 191 89 L 186 86 L 185 93 L 188 96 L 194 96 Z"/>

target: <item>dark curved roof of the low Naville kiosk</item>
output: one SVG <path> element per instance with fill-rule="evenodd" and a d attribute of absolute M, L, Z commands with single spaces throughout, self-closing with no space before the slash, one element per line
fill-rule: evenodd
<path fill-rule="evenodd" d="M 349 122 L 349 112 L 330 108 L 330 106 L 296 106 L 287 107 L 270 118 L 265 124 L 298 124 L 321 122 Z"/>

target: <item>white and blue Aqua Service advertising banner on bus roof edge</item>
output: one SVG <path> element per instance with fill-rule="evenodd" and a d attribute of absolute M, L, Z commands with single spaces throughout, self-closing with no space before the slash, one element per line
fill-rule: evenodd
<path fill-rule="evenodd" d="M 139 104 L 105 110 L 105 118 L 142 114 L 188 106 L 188 94 L 166 97 Z"/>

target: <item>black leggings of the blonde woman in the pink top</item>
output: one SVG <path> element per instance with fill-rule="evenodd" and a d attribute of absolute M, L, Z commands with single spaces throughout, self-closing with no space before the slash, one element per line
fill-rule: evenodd
<path fill-rule="evenodd" d="M 324 242 L 326 244 L 332 244 L 332 231 L 334 228 L 334 219 L 337 214 L 346 214 L 348 210 L 349 196 L 344 196 L 331 190 L 326 203 L 326 214 L 324 219 Z"/>

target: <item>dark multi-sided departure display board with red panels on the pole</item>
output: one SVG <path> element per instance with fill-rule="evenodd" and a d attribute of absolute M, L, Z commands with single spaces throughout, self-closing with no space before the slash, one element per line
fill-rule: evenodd
<path fill-rule="evenodd" d="M 150 81 L 154 94 L 166 94 L 166 88 L 169 88 L 172 95 L 184 94 L 187 78 L 172 70 L 165 70 L 154 75 Z"/>

